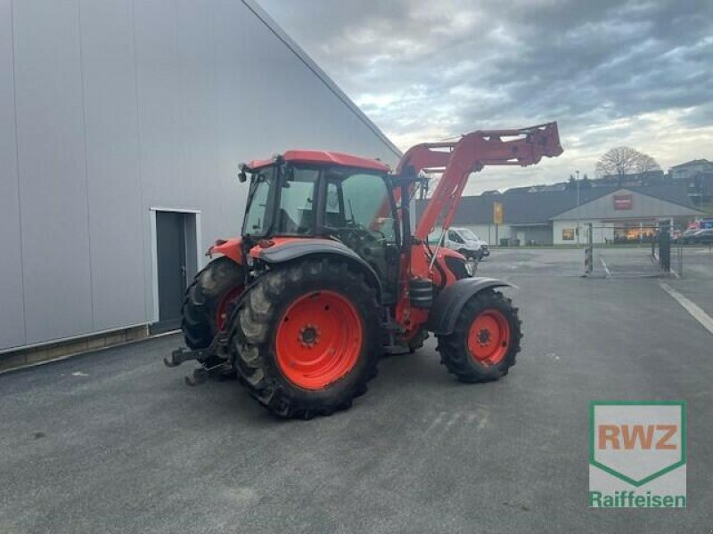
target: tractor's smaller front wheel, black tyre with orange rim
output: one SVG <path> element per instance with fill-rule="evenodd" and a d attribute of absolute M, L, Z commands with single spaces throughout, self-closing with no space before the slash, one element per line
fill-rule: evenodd
<path fill-rule="evenodd" d="M 448 336 L 438 336 L 441 363 L 462 382 L 489 382 L 515 365 L 522 338 L 518 309 L 486 289 L 471 297 Z"/>

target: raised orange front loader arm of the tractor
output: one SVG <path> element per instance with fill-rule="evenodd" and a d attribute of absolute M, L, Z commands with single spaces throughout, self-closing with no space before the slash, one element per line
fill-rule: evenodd
<path fill-rule="evenodd" d="M 555 158 L 561 153 L 555 122 L 519 130 L 479 130 L 454 142 L 414 146 L 401 158 L 397 174 L 443 170 L 414 236 L 426 239 L 441 215 L 443 228 L 450 227 L 471 173 L 488 165 L 535 165 L 543 156 Z"/>

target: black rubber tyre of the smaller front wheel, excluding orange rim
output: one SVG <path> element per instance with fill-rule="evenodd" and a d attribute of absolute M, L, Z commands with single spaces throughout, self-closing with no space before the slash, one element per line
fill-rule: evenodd
<path fill-rule="evenodd" d="M 507 321 L 510 333 L 506 341 L 506 352 L 502 360 L 495 364 L 477 360 L 468 347 L 471 325 L 481 313 L 490 311 L 499 313 Z M 492 289 L 480 291 L 463 306 L 455 322 L 453 333 L 437 337 L 441 363 L 458 380 L 468 383 L 497 380 L 507 375 L 510 368 L 515 365 L 515 356 L 520 352 L 522 331 L 518 309 L 512 306 L 511 299 L 505 298 L 501 293 Z"/>

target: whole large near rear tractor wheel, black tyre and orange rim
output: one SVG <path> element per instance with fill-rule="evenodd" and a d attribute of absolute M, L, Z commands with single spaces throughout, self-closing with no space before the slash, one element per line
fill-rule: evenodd
<path fill-rule="evenodd" d="M 282 417 L 348 409 L 376 376 L 379 304 L 347 263 L 307 259 L 262 275 L 234 321 L 234 367 Z"/>

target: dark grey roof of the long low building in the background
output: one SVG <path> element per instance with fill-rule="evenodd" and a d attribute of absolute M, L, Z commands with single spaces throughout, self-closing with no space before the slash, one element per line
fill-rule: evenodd
<path fill-rule="evenodd" d="M 685 187 L 678 184 L 646 187 L 593 187 L 579 190 L 579 206 L 619 190 L 629 190 L 672 204 L 695 209 Z M 420 217 L 427 200 L 416 201 Z M 502 195 L 463 197 L 455 211 L 453 225 L 489 224 L 493 222 L 493 203 L 503 204 L 504 224 L 546 224 L 558 215 L 578 206 L 577 190 L 537 191 L 507 190 Z"/>

